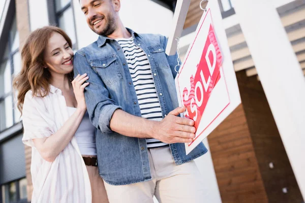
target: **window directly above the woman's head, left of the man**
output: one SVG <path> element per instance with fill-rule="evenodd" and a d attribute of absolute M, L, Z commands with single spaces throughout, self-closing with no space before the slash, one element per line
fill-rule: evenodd
<path fill-rule="evenodd" d="M 72 0 L 54 0 L 55 24 L 71 38 L 73 49 L 77 49 Z M 52 21 L 52 20 L 51 20 Z"/>

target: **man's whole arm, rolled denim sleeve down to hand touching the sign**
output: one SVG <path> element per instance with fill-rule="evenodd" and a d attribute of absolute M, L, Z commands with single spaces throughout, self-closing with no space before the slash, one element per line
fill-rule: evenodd
<path fill-rule="evenodd" d="M 93 125 L 103 133 L 115 131 L 128 137 L 155 138 L 165 143 L 191 142 L 195 137 L 194 121 L 177 115 L 185 107 L 170 112 L 162 121 L 151 121 L 121 110 L 110 99 L 109 92 L 100 76 L 92 69 L 85 56 L 74 56 L 74 74 L 87 73 L 90 83 L 85 88 L 87 111 Z"/>

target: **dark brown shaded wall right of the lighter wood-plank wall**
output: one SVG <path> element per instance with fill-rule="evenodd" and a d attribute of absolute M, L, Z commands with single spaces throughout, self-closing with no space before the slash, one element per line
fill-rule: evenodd
<path fill-rule="evenodd" d="M 245 71 L 237 72 L 236 77 L 269 202 L 301 202 L 300 190 L 261 83 L 256 77 L 247 77 Z M 274 168 L 269 167 L 271 162 Z"/>

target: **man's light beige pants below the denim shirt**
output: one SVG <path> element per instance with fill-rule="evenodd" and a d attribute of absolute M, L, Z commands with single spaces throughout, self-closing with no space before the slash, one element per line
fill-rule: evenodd
<path fill-rule="evenodd" d="M 202 203 L 202 176 L 194 161 L 175 165 L 169 147 L 148 149 L 153 180 L 130 185 L 105 183 L 110 203 Z"/>

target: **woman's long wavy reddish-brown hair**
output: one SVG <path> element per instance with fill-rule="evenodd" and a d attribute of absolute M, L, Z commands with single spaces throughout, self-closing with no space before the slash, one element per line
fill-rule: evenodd
<path fill-rule="evenodd" d="M 28 90 L 32 90 L 33 95 L 41 97 L 50 92 L 51 74 L 49 69 L 44 68 L 46 66 L 44 52 L 53 32 L 62 35 L 72 48 L 71 39 L 66 32 L 55 26 L 36 29 L 28 36 L 21 51 L 22 68 L 13 81 L 15 94 L 17 94 L 17 107 L 21 114 L 24 97 Z M 69 74 L 69 79 L 73 80 L 73 72 Z"/>

